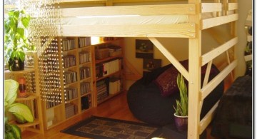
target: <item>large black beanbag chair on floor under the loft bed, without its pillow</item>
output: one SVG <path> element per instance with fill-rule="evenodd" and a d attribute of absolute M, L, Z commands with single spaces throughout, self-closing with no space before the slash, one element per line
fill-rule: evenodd
<path fill-rule="evenodd" d="M 182 61 L 185 63 L 185 61 Z M 183 64 L 183 66 L 188 69 L 188 62 Z M 156 84 L 155 80 L 161 73 L 168 70 L 169 68 L 174 68 L 172 64 L 157 68 L 150 73 L 143 76 L 141 79 L 136 81 L 131 85 L 127 93 L 127 101 L 131 113 L 145 123 L 153 125 L 168 125 L 173 123 L 173 114 L 175 110 L 173 105 L 176 105 L 176 99 L 179 98 L 179 91 L 172 93 L 170 96 L 162 96 L 159 86 Z M 206 66 L 202 67 L 201 82 L 203 83 L 204 73 Z M 209 81 L 219 73 L 216 66 L 211 67 L 211 73 Z M 177 77 L 178 73 L 174 73 Z M 173 80 L 176 80 L 176 77 Z M 186 81 L 186 80 L 185 80 Z M 186 81 L 187 83 L 187 81 Z M 223 82 L 221 82 L 203 101 L 203 107 L 201 110 L 201 118 L 203 118 L 208 110 L 218 101 L 223 95 Z"/>

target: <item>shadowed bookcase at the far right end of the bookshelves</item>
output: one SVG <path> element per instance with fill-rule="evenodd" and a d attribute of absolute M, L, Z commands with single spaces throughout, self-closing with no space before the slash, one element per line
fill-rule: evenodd
<path fill-rule="evenodd" d="M 123 46 L 123 38 L 112 37 L 101 38 L 92 45 L 96 106 L 124 90 Z"/>

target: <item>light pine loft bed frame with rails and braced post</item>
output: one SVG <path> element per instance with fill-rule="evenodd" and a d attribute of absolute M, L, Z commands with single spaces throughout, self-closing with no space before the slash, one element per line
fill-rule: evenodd
<path fill-rule="evenodd" d="M 218 105 L 218 102 L 213 105 L 213 108 L 200 120 L 203 99 L 229 73 L 233 78 L 232 71 L 237 65 L 236 58 L 228 56 L 228 50 L 233 49 L 238 42 L 236 37 L 237 1 L 64 0 L 60 5 L 67 7 L 70 2 L 82 4 L 84 7 L 56 9 L 56 12 L 60 14 L 60 21 L 56 22 L 59 36 L 147 37 L 153 42 L 188 81 L 187 137 L 199 138 L 199 135 L 211 123 Z M 91 6 L 99 3 L 104 5 Z M 140 5 L 133 5 L 135 3 Z M 206 15 L 209 16 L 206 17 Z M 202 54 L 202 31 L 222 24 L 231 26 L 229 30 L 231 39 L 208 53 Z M 166 46 L 158 41 L 159 37 L 188 38 L 188 71 L 166 49 Z M 208 82 L 212 61 L 221 53 L 226 53 L 227 59 L 224 62 L 228 64 Z M 206 64 L 206 74 L 201 88 L 201 67 Z"/>

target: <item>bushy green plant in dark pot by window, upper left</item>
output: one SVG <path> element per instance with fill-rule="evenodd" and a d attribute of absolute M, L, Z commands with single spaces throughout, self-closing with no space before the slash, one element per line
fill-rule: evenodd
<path fill-rule="evenodd" d="M 27 29 L 30 16 L 24 10 L 11 10 L 4 19 L 4 56 L 10 71 L 24 70 L 26 51 L 34 51 L 29 45 Z"/>

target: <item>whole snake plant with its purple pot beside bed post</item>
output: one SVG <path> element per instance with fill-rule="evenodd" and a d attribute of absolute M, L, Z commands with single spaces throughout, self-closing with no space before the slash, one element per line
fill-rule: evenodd
<path fill-rule="evenodd" d="M 183 76 L 178 73 L 177 84 L 181 100 L 176 100 L 175 109 L 175 125 L 178 130 L 187 130 L 188 126 L 188 94 L 186 83 L 183 80 Z"/>

